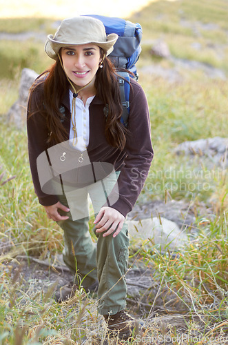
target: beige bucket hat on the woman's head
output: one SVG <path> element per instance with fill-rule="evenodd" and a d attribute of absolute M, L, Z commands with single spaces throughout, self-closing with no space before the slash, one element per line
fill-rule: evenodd
<path fill-rule="evenodd" d="M 45 52 L 56 60 L 61 47 L 93 43 L 109 55 L 117 39 L 118 34 L 109 34 L 106 37 L 105 26 L 99 19 L 78 16 L 64 19 L 54 37 L 52 34 L 48 35 Z"/>

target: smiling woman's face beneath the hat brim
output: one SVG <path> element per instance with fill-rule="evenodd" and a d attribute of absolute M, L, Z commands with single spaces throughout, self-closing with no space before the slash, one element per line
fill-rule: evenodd
<path fill-rule="evenodd" d="M 61 48 L 63 67 L 68 78 L 77 87 L 90 83 L 94 86 L 96 72 L 101 62 L 100 48 L 94 44 L 83 44 L 81 46 L 69 46 Z"/>

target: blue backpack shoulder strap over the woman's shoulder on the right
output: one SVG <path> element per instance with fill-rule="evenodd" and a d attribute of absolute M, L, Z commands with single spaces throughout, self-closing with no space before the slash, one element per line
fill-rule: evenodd
<path fill-rule="evenodd" d="M 121 102 L 123 113 L 121 116 L 122 124 L 127 127 L 129 117 L 129 90 L 130 90 L 130 77 L 128 72 L 118 71 L 118 84 L 121 92 Z"/>

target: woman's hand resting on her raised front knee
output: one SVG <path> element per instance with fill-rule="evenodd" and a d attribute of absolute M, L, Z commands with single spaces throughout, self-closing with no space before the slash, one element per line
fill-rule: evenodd
<path fill-rule="evenodd" d="M 106 233 L 103 234 L 103 237 L 113 234 L 113 237 L 116 237 L 123 227 L 123 222 L 125 217 L 115 210 L 112 207 L 102 207 L 98 215 L 94 220 L 96 224 L 96 233 Z M 108 230 L 107 230 L 108 229 Z"/>

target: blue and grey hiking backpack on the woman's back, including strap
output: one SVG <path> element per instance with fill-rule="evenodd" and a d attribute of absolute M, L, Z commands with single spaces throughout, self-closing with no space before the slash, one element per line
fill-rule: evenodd
<path fill-rule="evenodd" d="M 108 55 L 108 59 L 112 61 L 115 68 L 124 68 L 126 70 L 118 71 L 118 83 L 121 90 L 123 106 L 121 122 L 127 127 L 129 117 L 129 81 L 130 77 L 138 81 L 138 73 L 135 65 L 142 50 L 140 45 L 143 35 L 142 27 L 139 23 L 132 23 L 131 21 L 116 17 L 105 17 L 96 14 L 89 15 L 89 17 L 102 21 L 106 34 L 118 34 L 118 39 L 114 44 L 114 50 Z M 132 72 L 133 76 L 129 75 L 127 70 Z M 105 115 L 107 116 L 107 111 L 105 111 Z"/>

